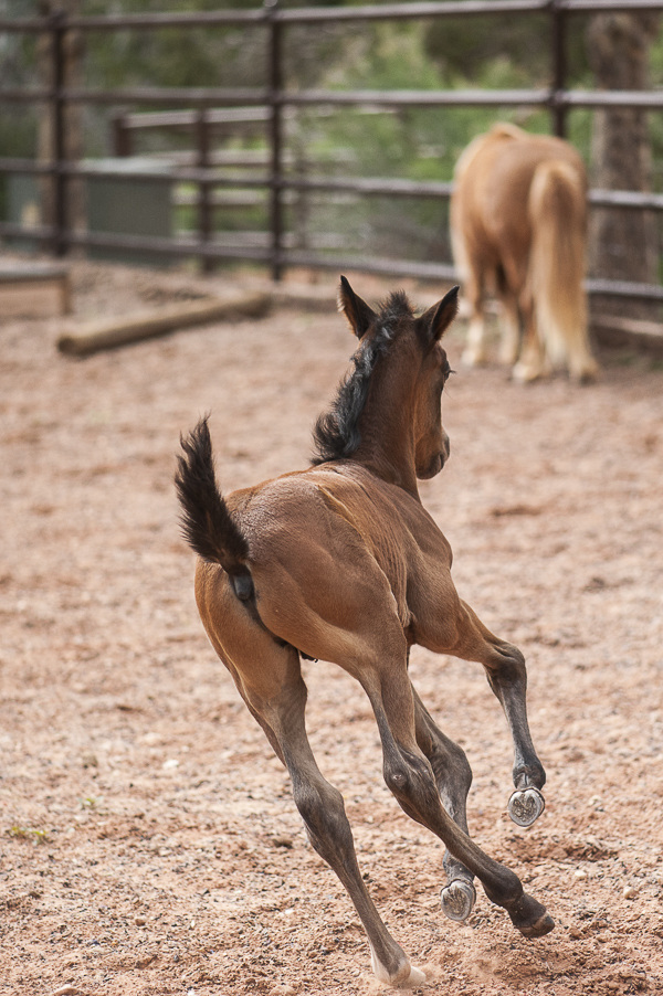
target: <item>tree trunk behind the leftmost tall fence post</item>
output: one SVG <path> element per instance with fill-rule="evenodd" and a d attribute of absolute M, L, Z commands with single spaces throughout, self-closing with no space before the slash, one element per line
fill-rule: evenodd
<path fill-rule="evenodd" d="M 80 0 L 39 0 L 41 17 L 51 17 L 63 10 L 70 17 L 81 13 Z M 81 85 L 83 59 L 83 40 L 77 31 L 67 31 L 64 36 L 64 86 Z M 54 84 L 53 36 L 44 33 L 38 42 L 38 67 L 42 86 Z M 53 108 L 51 104 L 40 107 L 36 156 L 40 162 L 50 162 L 55 158 L 55 133 Z M 77 161 L 83 158 L 83 108 L 80 104 L 70 104 L 64 110 L 64 156 Z M 40 221 L 45 225 L 55 223 L 55 180 L 43 177 L 40 188 Z M 85 229 L 85 186 L 82 179 L 70 179 L 66 182 L 66 225 L 74 231 Z"/>

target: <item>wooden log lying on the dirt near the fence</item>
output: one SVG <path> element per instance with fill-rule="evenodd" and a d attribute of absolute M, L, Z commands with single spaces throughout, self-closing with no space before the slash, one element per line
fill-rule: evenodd
<path fill-rule="evenodd" d="M 116 349 L 141 339 L 152 339 L 176 329 L 231 321 L 236 318 L 261 318 L 266 315 L 272 297 L 264 292 L 236 292 L 227 297 L 176 305 L 150 311 L 135 311 L 109 321 L 86 324 L 70 330 L 57 340 L 57 349 L 67 356 L 88 356 L 103 349 Z"/>

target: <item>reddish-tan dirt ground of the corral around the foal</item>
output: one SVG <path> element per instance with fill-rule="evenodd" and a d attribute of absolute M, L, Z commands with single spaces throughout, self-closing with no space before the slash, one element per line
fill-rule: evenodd
<path fill-rule="evenodd" d="M 87 316 L 201 293 L 186 274 L 74 276 Z M 206 411 L 225 490 L 304 467 L 345 322 L 278 308 L 86 360 L 56 331 L 0 330 L 0 993 L 375 993 L 355 911 L 207 642 L 172 488 Z M 661 993 L 663 370 L 611 353 L 594 385 L 523 388 L 463 370 L 461 343 L 459 327 L 452 458 L 421 495 L 461 595 L 528 658 L 548 772 L 532 829 L 506 816 L 511 743 L 482 669 L 415 649 L 412 675 L 470 757 L 473 836 L 556 930 L 524 940 L 481 889 L 467 923 L 442 915 L 441 846 L 385 787 L 364 693 L 324 663 L 305 664 L 312 743 L 429 973 L 417 992 Z"/>

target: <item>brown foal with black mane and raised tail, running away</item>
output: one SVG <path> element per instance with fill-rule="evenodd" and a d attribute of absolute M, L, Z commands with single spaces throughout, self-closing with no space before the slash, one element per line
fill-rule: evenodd
<path fill-rule="evenodd" d="M 425 976 L 382 923 L 357 865 L 343 796 L 312 753 L 301 657 L 340 665 L 366 691 L 388 787 L 408 816 L 446 845 L 444 912 L 470 915 L 476 876 L 526 937 L 554 926 L 519 879 L 467 836 L 470 765 L 408 675 L 412 644 L 483 664 L 514 741 L 509 810 L 516 823 L 534 823 L 546 775 L 527 725 L 523 655 L 459 598 L 451 549 L 417 489 L 417 478 L 433 477 L 449 456 L 441 395 L 451 371 L 440 338 L 456 312 L 457 289 L 415 317 L 404 294 L 392 294 L 376 312 L 341 277 L 340 307 L 359 346 L 332 411 L 317 422 L 313 466 L 223 498 L 204 418 L 182 439 L 176 476 L 185 534 L 199 555 L 204 628 L 288 770 L 313 847 L 355 903 L 376 975 L 392 986 Z"/>

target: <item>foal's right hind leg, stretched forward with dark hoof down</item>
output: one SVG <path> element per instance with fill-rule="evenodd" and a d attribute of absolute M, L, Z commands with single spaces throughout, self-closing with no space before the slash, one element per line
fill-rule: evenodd
<path fill-rule="evenodd" d="M 523 890 L 518 877 L 490 858 L 442 806 L 430 762 L 417 744 L 412 686 L 403 660 L 385 658 L 361 669 L 380 740 L 387 786 L 401 809 L 428 827 L 453 857 L 482 882 L 488 899 L 503 907 L 526 937 L 539 937 L 555 923 L 546 908 Z"/>

